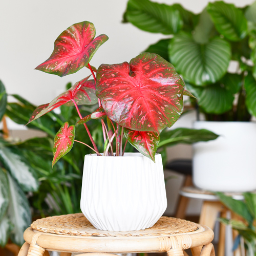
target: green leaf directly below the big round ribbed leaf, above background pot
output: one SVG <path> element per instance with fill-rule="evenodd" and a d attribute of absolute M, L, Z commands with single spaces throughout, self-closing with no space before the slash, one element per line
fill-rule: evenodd
<path fill-rule="evenodd" d="M 223 114 L 232 109 L 234 96 L 220 83 L 204 88 L 186 83 L 187 89 L 196 96 L 199 106 L 211 114 Z"/>

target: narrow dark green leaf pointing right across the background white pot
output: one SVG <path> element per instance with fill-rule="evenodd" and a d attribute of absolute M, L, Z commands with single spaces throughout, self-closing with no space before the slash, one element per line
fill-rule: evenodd
<path fill-rule="evenodd" d="M 164 146 L 173 146 L 178 143 L 192 144 L 199 141 L 215 140 L 219 135 L 208 130 L 177 128 L 174 130 L 164 129 L 160 134 L 158 148 Z"/>

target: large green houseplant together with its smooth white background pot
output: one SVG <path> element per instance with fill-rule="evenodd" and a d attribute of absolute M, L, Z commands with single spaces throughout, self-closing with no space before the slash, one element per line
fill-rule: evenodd
<path fill-rule="evenodd" d="M 178 4 L 130 0 L 124 22 L 170 35 L 145 51 L 159 53 L 174 64 L 188 90 L 197 97 L 191 103 L 206 120 L 249 121 L 256 115 L 255 8 L 256 3 L 237 8 L 217 1 L 196 15 Z M 234 67 L 228 69 L 231 60 Z M 222 136 L 212 143 L 194 146 L 194 183 L 215 191 L 255 189 L 256 182 L 252 181 L 256 180 L 256 161 L 251 159 L 256 151 L 247 141 L 256 141 L 256 125 L 201 122 L 195 127 Z M 241 152 L 241 148 L 248 151 Z M 248 178 L 244 182 L 239 179 L 241 169 Z"/>

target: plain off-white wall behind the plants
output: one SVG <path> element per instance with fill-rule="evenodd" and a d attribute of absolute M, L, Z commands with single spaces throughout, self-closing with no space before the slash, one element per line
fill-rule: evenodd
<path fill-rule="evenodd" d="M 139 1 L 139 0 L 138 0 Z M 156 0 L 155 0 L 156 1 Z M 158 0 L 156 2 L 181 3 L 185 8 L 200 12 L 206 0 Z M 210 1 L 214 2 L 214 1 Z M 251 4 L 253 0 L 225 0 L 237 6 Z M 50 102 L 63 92 L 65 84 L 76 82 L 90 74 L 86 68 L 76 74 L 58 77 L 34 70 L 53 51 L 54 40 L 70 25 L 83 20 L 94 23 L 96 35 L 106 34 L 109 40 L 99 48 L 91 65 L 130 61 L 148 45 L 164 36 L 143 32 L 131 24 L 121 24 L 127 0 L 8 0 L 0 5 L 0 79 L 9 94 L 19 94 L 39 105 Z M 182 117 L 173 126 L 191 127 L 195 114 Z M 12 124 L 11 125 L 11 129 Z M 191 157 L 191 146 L 176 146 L 169 149 L 169 159 Z M 166 176 L 172 173 L 166 172 Z M 182 176 L 167 183 L 168 208 L 174 212 Z M 200 201 L 191 201 L 188 212 L 198 214 Z"/>

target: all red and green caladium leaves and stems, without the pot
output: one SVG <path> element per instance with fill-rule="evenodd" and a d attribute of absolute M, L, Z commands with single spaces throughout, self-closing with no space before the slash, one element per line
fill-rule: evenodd
<path fill-rule="evenodd" d="M 101 65 L 96 70 L 89 61 L 99 46 L 108 40 L 108 36 L 94 37 L 94 25 L 89 22 L 74 24 L 59 35 L 50 58 L 36 69 L 65 76 L 87 67 L 94 80 L 88 80 L 88 76 L 49 104 L 38 106 L 29 122 L 60 105 L 75 105 L 80 117 L 76 125 L 84 125 L 93 147 L 88 146 L 98 156 L 102 155 L 87 126 L 91 119 L 101 119 L 102 122 L 103 156 L 123 155 L 129 141 L 154 161 L 161 131 L 177 121 L 183 111 L 183 95 L 190 94 L 184 91 L 184 82 L 174 66 L 157 54 L 142 53 L 130 63 Z M 95 112 L 81 116 L 78 105 L 97 102 L 99 108 Z M 126 142 L 123 147 L 124 138 Z M 75 126 L 69 126 L 66 122 L 55 137 L 53 165 L 71 150 L 74 141 Z"/>

